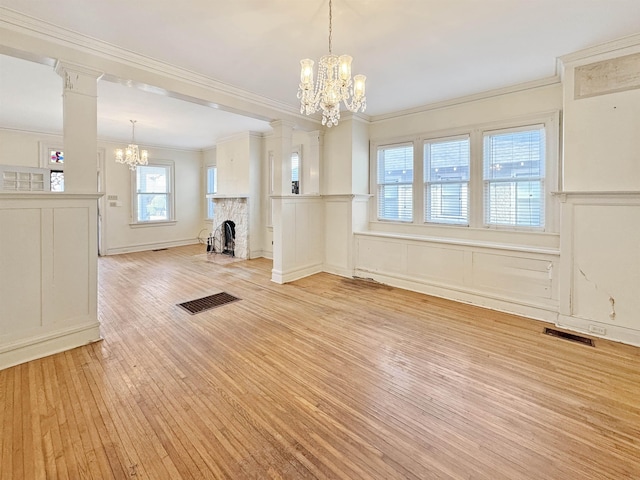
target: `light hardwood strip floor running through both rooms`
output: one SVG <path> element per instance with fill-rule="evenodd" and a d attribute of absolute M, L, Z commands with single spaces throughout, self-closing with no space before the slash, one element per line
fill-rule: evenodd
<path fill-rule="evenodd" d="M 100 259 L 104 340 L 0 371 L 0 478 L 640 479 L 640 349 L 270 268 Z"/>

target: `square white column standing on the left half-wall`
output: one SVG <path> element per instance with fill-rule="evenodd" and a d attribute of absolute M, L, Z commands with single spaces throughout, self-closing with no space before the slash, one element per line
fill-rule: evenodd
<path fill-rule="evenodd" d="M 63 79 L 63 136 L 65 193 L 96 193 L 97 92 L 102 73 L 59 61 Z"/>

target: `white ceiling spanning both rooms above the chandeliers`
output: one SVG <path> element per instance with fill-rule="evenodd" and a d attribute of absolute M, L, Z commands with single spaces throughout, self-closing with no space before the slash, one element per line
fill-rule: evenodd
<path fill-rule="evenodd" d="M 58 34 L 108 42 L 292 109 L 299 60 L 328 49 L 328 0 L 0 4 Z M 354 73 L 367 75 L 374 117 L 551 77 L 557 57 L 639 32 L 639 0 L 333 0 L 334 52 L 352 55 Z M 60 132 L 61 80 L 51 66 L 0 57 L 0 70 L 0 125 Z M 98 97 L 101 138 L 128 139 L 129 119 L 138 120 L 140 143 L 183 148 L 269 131 L 263 118 L 104 80 Z"/>

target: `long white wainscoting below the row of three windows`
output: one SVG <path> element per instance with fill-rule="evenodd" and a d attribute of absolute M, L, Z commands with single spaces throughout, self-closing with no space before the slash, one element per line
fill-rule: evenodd
<path fill-rule="evenodd" d="M 356 233 L 358 277 L 555 322 L 559 251 Z"/>

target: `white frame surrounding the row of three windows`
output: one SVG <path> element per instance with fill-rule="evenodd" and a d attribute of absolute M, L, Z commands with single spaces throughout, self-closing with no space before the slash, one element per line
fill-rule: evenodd
<path fill-rule="evenodd" d="M 544 224 L 542 227 L 526 227 L 511 225 L 487 225 L 484 222 L 484 145 L 485 132 L 528 130 L 542 126 L 545 137 L 545 165 L 544 172 Z M 468 191 L 468 224 L 436 223 L 426 221 L 425 210 L 425 182 L 424 182 L 424 144 L 440 139 L 451 139 L 468 135 L 470 140 L 470 170 Z M 411 222 L 378 218 L 378 150 L 382 147 L 413 143 L 414 145 L 414 178 L 413 178 L 413 220 Z M 396 138 L 372 138 L 370 142 L 370 223 L 380 224 L 384 231 L 390 230 L 393 224 L 398 225 L 398 233 L 418 233 L 416 228 L 427 228 L 425 233 L 437 234 L 443 229 L 454 236 L 467 235 L 456 234 L 453 229 L 469 229 L 483 231 L 504 231 L 516 233 L 552 233 L 559 232 L 559 203 L 552 195 L 561 190 L 560 166 L 560 110 L 550 110 L 533 113 L 530 115 L 516 116 L 498 121 L 478 122 L 472 125 L 458 126 L 432 132 L 418 133 L 412 136 Z M 384 227 L 383 224 L 391 224 Z M 376 227 L 373 227 L 376 228 Z M 490 238 L 490 237 L 488 237 Z"/>

